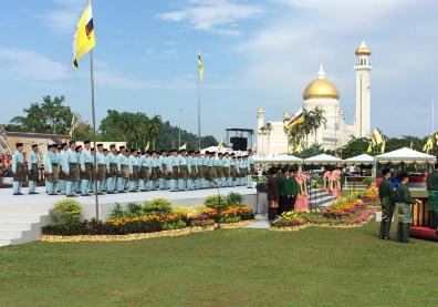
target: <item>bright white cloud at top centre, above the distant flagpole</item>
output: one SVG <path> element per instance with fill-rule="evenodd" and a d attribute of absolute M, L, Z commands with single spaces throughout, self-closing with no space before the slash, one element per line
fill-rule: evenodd
<path fill-rule="evenodd" d="M 166 21 L 187 21 L 197 30 L 215 31 L 223 35 L 239 35 L 238 21 L 259 17 L 263 9 L 255 4 L 237 3 L 232 0 L 191 0 L 180 10 L 158 17 Z"/>

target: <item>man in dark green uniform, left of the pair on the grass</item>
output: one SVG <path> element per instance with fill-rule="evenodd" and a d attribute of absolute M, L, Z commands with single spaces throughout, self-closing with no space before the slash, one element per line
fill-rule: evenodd
<path fill-rule="evenodd" d="M 394 214 L 394 187 L 390 178 L 390 171 L 385 168 L 382 171 L 383 181 L 378 186 L 378 197 L 382 206 L 382 222 L 380 222 L 380 239 L 389 239 L 390 222 Z"/>

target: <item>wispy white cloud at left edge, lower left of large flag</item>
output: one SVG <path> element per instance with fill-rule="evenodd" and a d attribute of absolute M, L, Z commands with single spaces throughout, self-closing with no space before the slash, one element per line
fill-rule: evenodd
<path fill-rule="evenodd" d="M 56 81 L 69 76 L 65 64 L 34 51 L 0 48 L 0 78 L 7 80 Z"/>

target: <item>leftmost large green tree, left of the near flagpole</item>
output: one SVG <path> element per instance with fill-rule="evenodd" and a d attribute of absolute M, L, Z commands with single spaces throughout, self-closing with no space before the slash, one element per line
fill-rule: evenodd
<path fill-rule="evenodd" d="M 7 130 L 69 134 L 73 112 L 64 102 L 64 96 L 43 96 L 42 103 L 34 102 L 24 109 L 23 116 L 13 117 Z"/>

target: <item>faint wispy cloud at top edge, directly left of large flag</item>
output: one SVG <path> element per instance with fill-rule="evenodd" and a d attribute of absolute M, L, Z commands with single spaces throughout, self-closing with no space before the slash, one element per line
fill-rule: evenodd
<path fill-rule="evenodd" d="M 72 34 L 85 9 L 86 0 L 52 0 L 55 9 L 38 17 L 44 25 L 56 34 Z"/>

